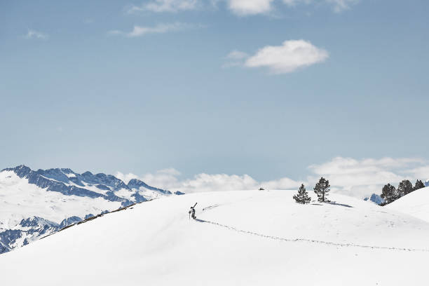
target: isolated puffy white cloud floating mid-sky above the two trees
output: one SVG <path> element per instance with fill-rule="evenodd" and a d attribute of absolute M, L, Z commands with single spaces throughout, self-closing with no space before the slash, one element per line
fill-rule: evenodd
<path fill-rule="evenodd" d="M 273 74 L 285 74 L 300 67 L 324 62 L 329 54 L 309 41 L 284 41 L 282 46 L 266 46 L 243 62 L 245 67 L 267 67 Z"/>

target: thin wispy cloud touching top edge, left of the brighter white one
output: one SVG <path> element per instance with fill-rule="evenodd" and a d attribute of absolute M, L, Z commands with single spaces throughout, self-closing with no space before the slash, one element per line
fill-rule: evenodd
<path fill-rule="evenodd" d="M 132 5 L 126 10 L 128 13 L 136 13 L 141 11 L 151 12 L 179 12 L 194 10 L 198 7 L 198 0 L 155 0 L 149 1 L 141 6 Z"/>

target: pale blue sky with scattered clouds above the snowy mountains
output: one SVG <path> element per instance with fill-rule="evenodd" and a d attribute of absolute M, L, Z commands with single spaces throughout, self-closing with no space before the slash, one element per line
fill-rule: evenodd
<path fill-rule="evenodd" d="M 428 12 L 417 0 L 1 1 L 0 168 L 185 191 L 325 176 L 359 196 L 429 179 Z"/>

